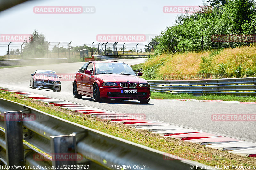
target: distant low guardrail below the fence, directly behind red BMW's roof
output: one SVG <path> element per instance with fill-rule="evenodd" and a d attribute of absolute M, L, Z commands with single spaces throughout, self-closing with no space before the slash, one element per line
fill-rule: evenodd
<path fill-rule="evenodd" d="M 93 55 L 95 60 L 116 60 L 116 59 L 131 59 L 131 58 L 148 58 L 153 55 L 143 54 L 127 54 L 127 55 Z"/>

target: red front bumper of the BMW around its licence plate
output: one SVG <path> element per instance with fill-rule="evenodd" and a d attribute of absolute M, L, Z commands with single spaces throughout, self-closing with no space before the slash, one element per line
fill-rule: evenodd
<path fill-rule="evenodd" d="M 137 90 L 137 94 L 121 93 L 121 90 Z M 150 99 L 150 89 L 99 87 L 100 98 L 110 99 Z M 110 92 L 110 93 L 109 93 Z"/>

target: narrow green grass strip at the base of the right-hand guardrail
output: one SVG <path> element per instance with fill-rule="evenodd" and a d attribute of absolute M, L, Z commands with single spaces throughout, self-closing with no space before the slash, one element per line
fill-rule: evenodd
<path fill-rule="evenodd" d="M 202 95 L 193 96 L 192 94 L 172 94 L 151 92 L 151 99 L 207 99 L 207 100 L 227 100 L 227 101 L 244 101 L 256 102 L 256 96 L 232 96 L 232 95 Z"/>

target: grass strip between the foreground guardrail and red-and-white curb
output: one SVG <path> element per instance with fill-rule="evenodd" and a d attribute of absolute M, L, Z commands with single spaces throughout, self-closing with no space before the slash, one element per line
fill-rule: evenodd
<path fill-rule="evenodd" d="M 12 92 L 0 90 L 0 97 L 31 106 L 48 114 L 58 116 L 68 121 L 75 122 L 116 137 L 210 166 L 243 165 L 244 163 L 256 165 L 256 161 L 253 160 L 253 158 L 245 158 L 212 148 L 205 148 L 197 144 L 186 143 L 169 137 L 161 137 L 145 130 L 129 128 L 118 123 L 93 118 L 87 115 L 75 113 L 74 111 L 47 105 Z"/>

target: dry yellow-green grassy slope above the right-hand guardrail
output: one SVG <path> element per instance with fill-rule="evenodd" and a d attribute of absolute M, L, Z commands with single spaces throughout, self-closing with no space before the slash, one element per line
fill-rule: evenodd
<path fill-rule="evenodd" d="M 162 54 L 149 59 L 144 72 L 145 78 L 164 80 L 253 77 L 256 44 L 219 51 Z"/>

